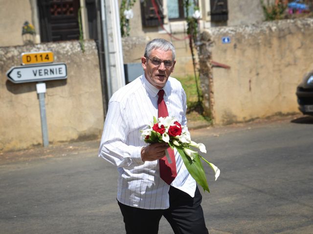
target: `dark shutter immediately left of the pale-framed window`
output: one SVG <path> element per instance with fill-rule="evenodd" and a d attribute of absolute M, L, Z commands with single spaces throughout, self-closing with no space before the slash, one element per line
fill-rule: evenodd
<path fill-rule="evenodd" d="M 157 13 L 160 16 L 161 23 L 163 24 L 164 21 L 164 15 L 162 12 L 162 0 L 155 0 L 156 2 L 156 8 Z M 141 5 L 141 21 L 142 26 L 144 27 L 153 27 L 153 26 L 160 26 L 161 23 L 158 20 L 156 11 L 154 9 L 154 6 L 152 4 L 152 0 L 145 0 L 140 3 Z"/>

